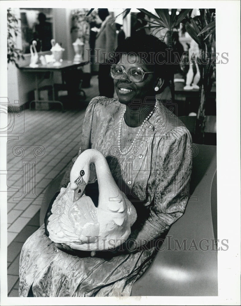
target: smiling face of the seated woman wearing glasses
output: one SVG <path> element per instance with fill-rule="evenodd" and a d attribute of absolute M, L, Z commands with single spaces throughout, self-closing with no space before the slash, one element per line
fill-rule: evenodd
<path fill-rule="evenodd" d="M 140 67 L 144 72 L 151 72 L 154 69 L 154 65 L 149 67 L 134 54 L 123 54 L 118 64 L 123 66 L 125 70 L 131 67 Z M 140 99 L 144 102 L 146 97 L 155 96 L 154 73 L 145 74 L 143 80 L 139 83 L 130 81 L 127 74 L 123 73 L 120 80 L 114 80 L 114 85 L 119 102 L 122 104 L 127 105 L 132 102 L 132 99 Z"/>

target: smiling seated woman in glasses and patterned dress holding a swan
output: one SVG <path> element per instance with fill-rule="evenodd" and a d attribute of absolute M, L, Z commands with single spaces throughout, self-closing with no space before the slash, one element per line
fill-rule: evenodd
<path fill-rule="evenodd" d="M 163 53 L 154 57 L 158 52 Z M 31 285 L 35 297 L 129 296 L 156 255 L 156 238 L 165 237 L 185 210 L 191 136 L 155 98 L 170 78 L 166 44 L 152 35 L 135 35 L 116 54 L 111 76 L 118 99 L 90 101 L 80 151 L 103 153 L 117 185 L 136 207 L 137 220 L 118 250 L 91 254 L 52 243 L 41 226 L 22 248 L 20 296 L 27 296 Z M 61 186 L 68 182 L 69 171 Z"/>

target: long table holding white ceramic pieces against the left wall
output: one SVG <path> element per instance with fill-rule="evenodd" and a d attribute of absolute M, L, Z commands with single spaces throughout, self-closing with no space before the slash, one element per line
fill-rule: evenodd
<path fill-rule="evenodd" d="M 31 104 L 33 102 L 35 102 L 35 103 L 59 103 L 61 105 L 61 108 L 62 108 L 62 111 L 63 111 L 63 103 L 58 101 L 58 100 L 55 100 L 54 72 L 59 71 L 59 72 L 63 73 L 67 70 L 77 69 L 78 67 L 83 66 L 85 64 L 86 64 L 86 62 L 73 64 L 72 61 L 63 60 L 63 62 L 61 62 L 61 65 L 59 65 L 59 66 L 54 66 L 54 63 L 49 63 L 49 64 L 46 64 L 46 65 L 39 64 L 39 66 L 36 67 L 36 68 L 29 67 L 29 65 L 19 67 L 19 69 L 23 72 L 33 72 L 33 73 L 35 73 L 37 99 L 30 102 L 30 104 L 29 104 L 30 110 L 31 110 Z M 41 100 L 40 95 L 39 95 L 39 89 L 40 89 L 39 88 L 39 83 L 41 82 L 41 79 L 39 79 L 39 73 L 46 73 L 46 72 L 50 72 L 50 80 L 51 80 L 51 85 L 52 85 L 52 97 L 53 97 L 52 100 Z"/>

